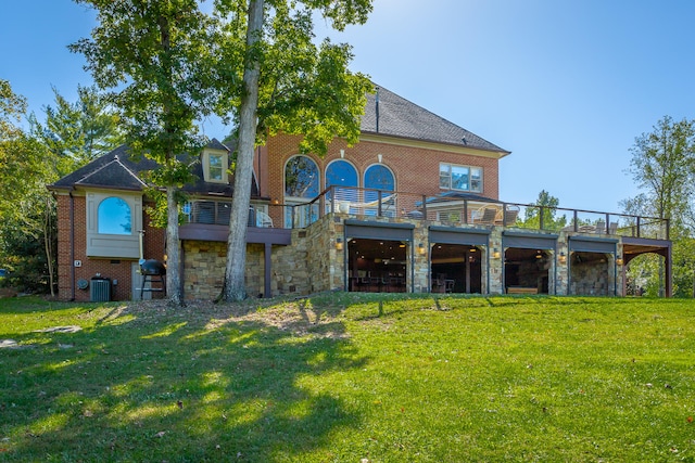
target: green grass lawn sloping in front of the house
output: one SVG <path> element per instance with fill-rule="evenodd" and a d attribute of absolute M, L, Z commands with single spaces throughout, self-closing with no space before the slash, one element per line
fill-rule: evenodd
<path fill-rule="evenodd" d="M 693 462 L 694 316 L 580 297 L 0 299 L 17 343 L 0 349 L 0 462 Z"/>

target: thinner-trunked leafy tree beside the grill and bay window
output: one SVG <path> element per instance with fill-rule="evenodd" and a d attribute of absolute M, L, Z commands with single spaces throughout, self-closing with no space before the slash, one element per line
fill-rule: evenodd
<path fill-rule="evenodd" d="M 190 171 L 177 155 L 205 144 L 195 120 L 214 99 L 206 78 L 214 21 L 197 0 L 75 1 L 93 7 L 99 25 L 71 49 L 85 54 L 97 86 L 112 90 L 131 151 L 160 166 L 151 179 L 166 190 L 167 296 L 180 305 L 176 193 Z"/>

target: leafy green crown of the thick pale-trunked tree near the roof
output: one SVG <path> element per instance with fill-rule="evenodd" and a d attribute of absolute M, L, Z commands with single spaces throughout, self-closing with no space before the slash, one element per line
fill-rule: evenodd
<path fill-rule="evenodd" d="M 222 98 L 217 112 L 240 124 L 244 94 L 243 64 L 257 60 L 261 77 L 256 142 L 278 132 L 304 136 L 300 150 L 325 154 L 336 138 L 354 144 L 359 136 L 359 116 L 372 85 L 366 76 L 348 68 L 350 46 L 314 42 L 314 10 L 327 15 L 337 27 L 362 24 L 371 10 L 370 1 L 305 1 L 290 7 L 286 1 L 267 2 L 263 40 L 253 50 L 245 46 L 245 8 L 223 1 L 219 13 L 227 14 L 217 69 Z M 243 2 L 245 3 L 245 2 Z"/>

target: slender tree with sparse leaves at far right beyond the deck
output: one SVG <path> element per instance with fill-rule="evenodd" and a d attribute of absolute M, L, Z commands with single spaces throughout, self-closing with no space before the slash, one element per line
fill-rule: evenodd
<path fill-rule="evenodd" d="M 693 257 L 693 193 L 695 181 L 695 121 L 674 121 L 665 116 L 649 133 L 635 138 L 630 150 L 629 172 L 642 192 L 622 202 L 628 214 L 669 219 L 673 242 L 673 295 L 692 294 L 695 278 Z M 658 260 L 658 262 L 657 262 Z M 629 276 L 645 281 L 647 294 L 664 287 L 661 259 L 640 259 L 630 263 Z"/>

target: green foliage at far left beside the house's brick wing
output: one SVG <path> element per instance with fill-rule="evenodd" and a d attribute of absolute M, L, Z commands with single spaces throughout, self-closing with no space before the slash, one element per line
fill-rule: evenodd
<path fill-rule="evenodd" d="M 79 87 L 74 104 L 54 89 L 55 107 L 46 107 L 45 121 L 26 115 L 26 101 L 9 82 L 0 80 L 0 267 L 13 270 L 5 284 L 53 293 L 58 226 L 46 185 L 114 149 L 115 116 L 91 88 Z M 25 117 L 28 131 L 21 127 Z"/>

